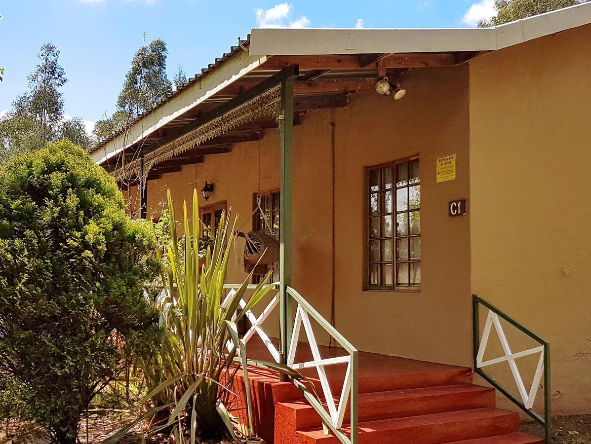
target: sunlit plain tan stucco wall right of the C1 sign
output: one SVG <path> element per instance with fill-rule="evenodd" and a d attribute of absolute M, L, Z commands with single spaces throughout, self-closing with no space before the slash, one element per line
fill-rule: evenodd
<path fill-rule="evenodd" d="M 591 411 L 590 54 L 587 25 L 470 62 L 472 290 L 550 341 L 553 413 Z"/>

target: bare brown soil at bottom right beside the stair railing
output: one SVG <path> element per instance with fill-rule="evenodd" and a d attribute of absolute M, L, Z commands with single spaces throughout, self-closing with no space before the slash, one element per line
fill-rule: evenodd
<path fill-rule="evenodd" d="M 544 430 L 536 423 L 521 425 L 521 431 L 544 437 Z M 591 414 L 558 416 L 552 419 L 553 444 L 591 444 Z"/>

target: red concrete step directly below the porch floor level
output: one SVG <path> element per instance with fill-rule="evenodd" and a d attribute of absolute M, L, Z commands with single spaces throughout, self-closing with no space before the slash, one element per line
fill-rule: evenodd
<path fill-rule="evenodd" d="M 459 384 L 361 393 L 358 406 L 359 422 L 481 409 L 495 406 L 495 390 L 473 384 Z M 349 421 L 349 417 L 348 409 L 345 423 Z M 277 430 L 294 432 L 322 426 L 320 416 L 306 401 L 277 403 L 275 422 L 281 423 L 281 427 L 276 427 Z"/>

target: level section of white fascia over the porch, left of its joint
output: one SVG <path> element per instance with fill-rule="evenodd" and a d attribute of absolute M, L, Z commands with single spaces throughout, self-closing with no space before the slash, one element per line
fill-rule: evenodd
<path fill-rule="evenodd" d="M 444 53 L 492 51 L 492 28 L 450 29 L 319 29 L 253 28 L 252 56 L 317 56 L 328 54 Z"/>

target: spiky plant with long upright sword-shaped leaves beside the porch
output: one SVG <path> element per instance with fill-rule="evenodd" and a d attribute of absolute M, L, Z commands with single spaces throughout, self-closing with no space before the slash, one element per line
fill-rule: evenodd
<path fill-rule="evenodd" d="M 168 210 L 170 234 L 158 235 L 160 239 L 170 239 L 166 246 L 167 259 L 163 262 L 164 294 L 158 300 L 163 309 L 165 334 L 160 353 L 142 367 L 152 395 L 149 396 L 157 406 L 174 406 L 168 417 L 170 430 L 167 432 L 175 442 L 183 442 L 180 437 L 187 435 L 186 442 L 194 442 L 197 435 L 201 439 L 232 438 L 239 442 L 226 406 L 234 399 L 228 388 L 232 387 L 236 374 L 234 358 L 240 356 L 246 360 L 246 356 L 238 342 L 230 346 L 228 341 L 232 339 L 232 330 L 235 331 L 235 324 L 231 322 L 233 315 L 241 299 L 246 298 L 252 273 L 224 303 L 223 283 L 233 254 L 236 220 L 230 223 L 230 214 L 226 217 L 222 213 L 213 246 L 205 247 L 200 269 L 204 244 L 199 228 L 197 191 L 193 191 L 191 221 L 187 204 L 183 205 L 184 234 L 180 241 L 170 190 Z M 264 284 L 267 277 L 252 289 L 245 308 L 236 314 L 234 321 L 239 322 L 246 311 L 272 292 L 274 287 Z M 244 365 L 243 371 L 246 371 Z M 252 423 L 249 432 L 253 432 Z"/>

